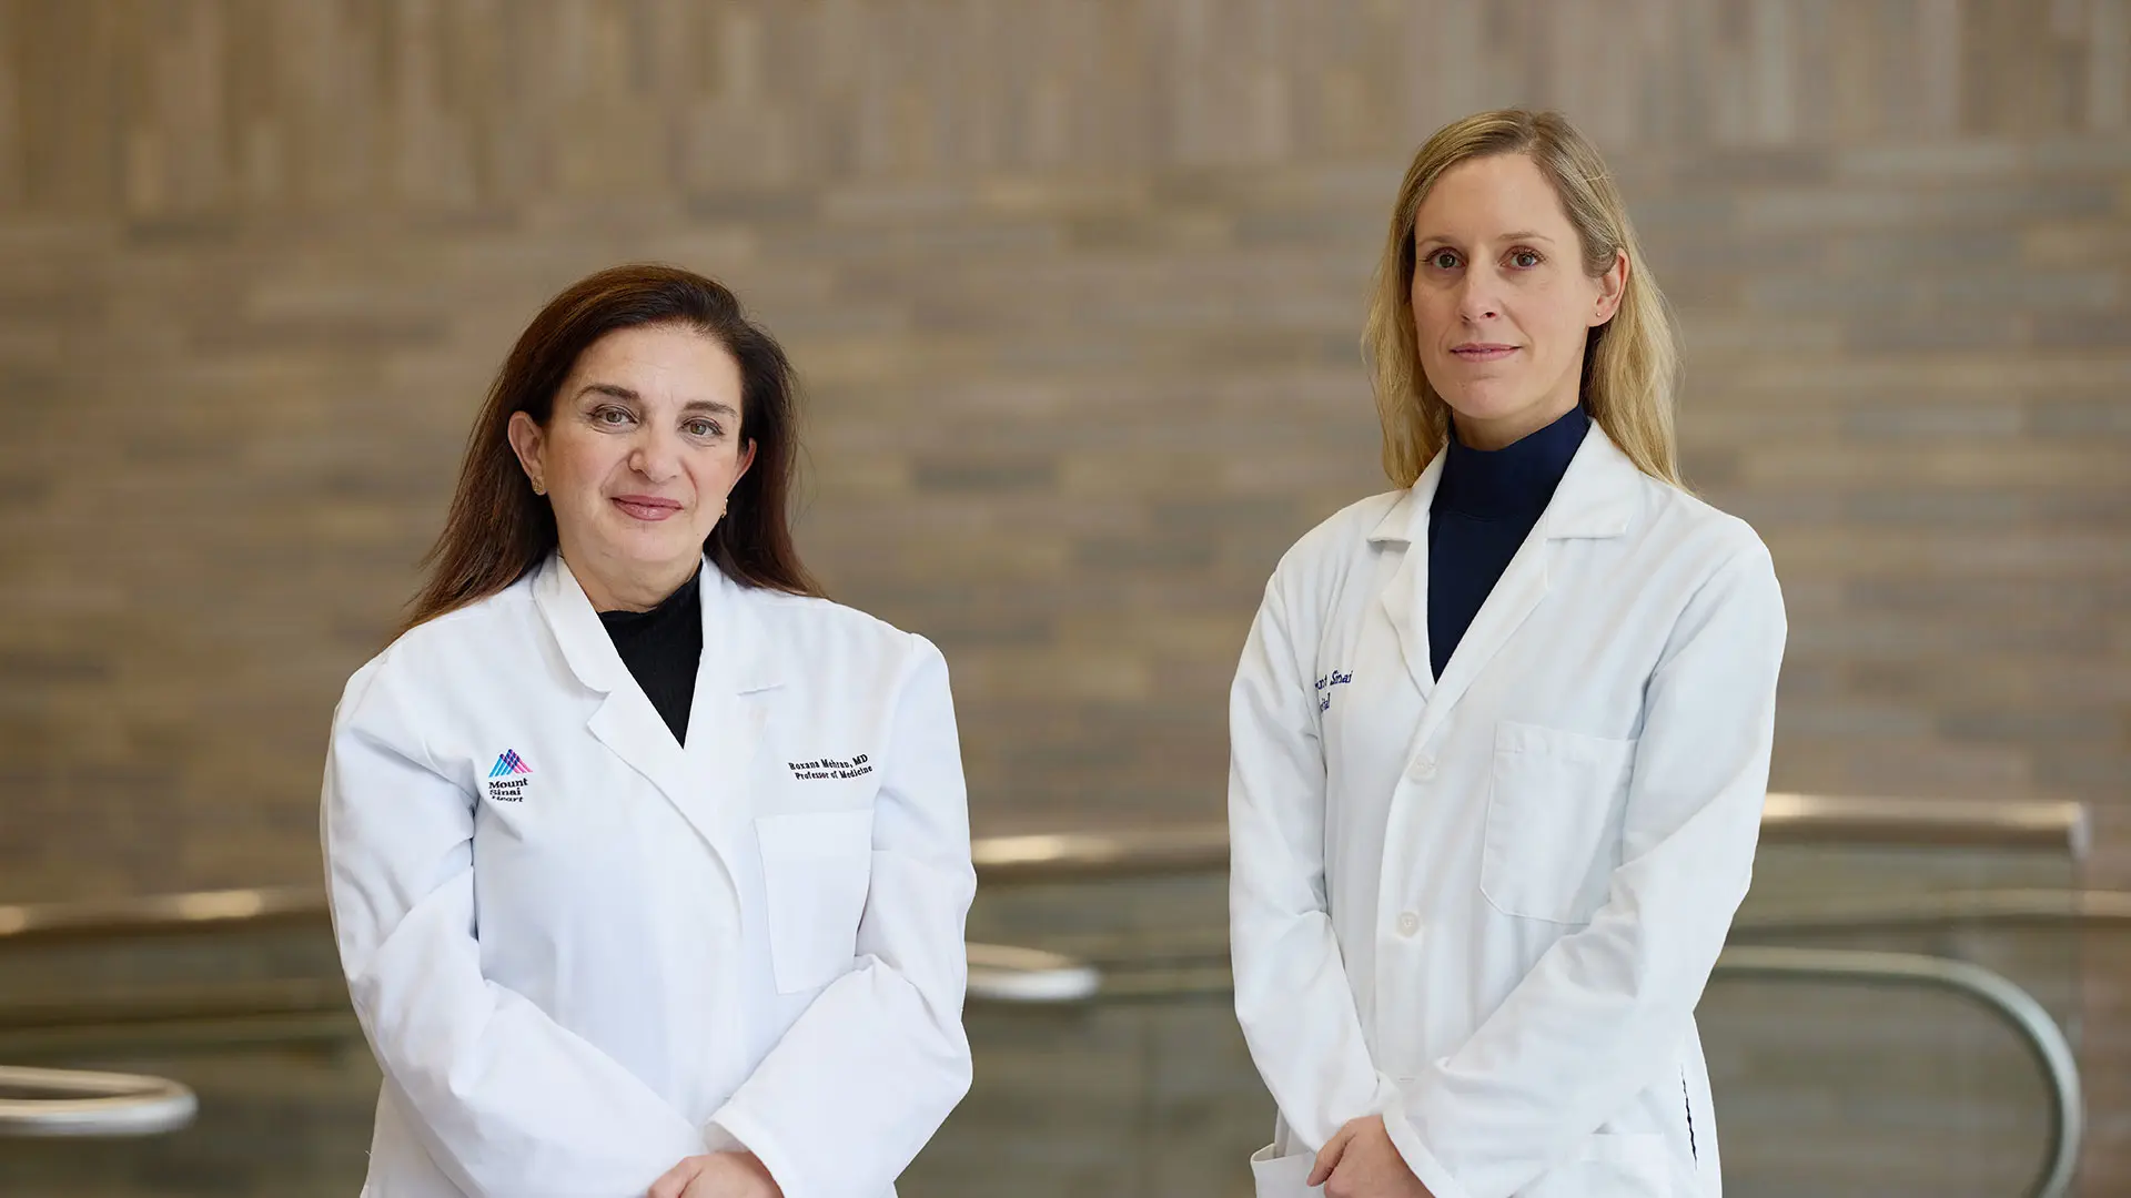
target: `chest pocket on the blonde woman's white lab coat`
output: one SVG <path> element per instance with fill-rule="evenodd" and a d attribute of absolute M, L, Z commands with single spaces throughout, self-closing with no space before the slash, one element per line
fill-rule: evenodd
<path fill-rule="evenodd" d="M 1620 865 L 1634 742 L 1502 721 L 1479 889 L 1502 914 L 1590 923 Z"/>

